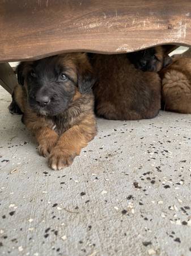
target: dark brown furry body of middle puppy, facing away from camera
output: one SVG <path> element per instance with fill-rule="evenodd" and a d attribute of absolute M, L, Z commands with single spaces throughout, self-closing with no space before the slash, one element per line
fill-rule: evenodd
<path fill-rule="evenodd" d="M 125 54 L 94 54 L 91 64 L 97 76 L 93 88 L 97 115 L 135 120 L 158 114 L 161 81 L 157 73 L 136 69 Z"/>

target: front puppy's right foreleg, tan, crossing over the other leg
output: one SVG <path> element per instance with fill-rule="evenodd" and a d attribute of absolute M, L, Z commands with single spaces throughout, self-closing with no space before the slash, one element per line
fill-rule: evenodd
<path fill-rule="evenodd" d="M 79 125 L 74 125 L 61 135 L 56 146 L 50 152 L 49 167 L 53 170 L 61 170 L 70 166 L 75 156 L 80 154 L 82 148 L 86 147 L 95 135 L 95 118 L 90 115 Z"/>

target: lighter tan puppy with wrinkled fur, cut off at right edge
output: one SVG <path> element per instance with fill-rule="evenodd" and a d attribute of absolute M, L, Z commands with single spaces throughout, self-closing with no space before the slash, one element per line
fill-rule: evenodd
<path fill-rule="evenodd" d="M 191 113 L 191 59 L 180 57 L 160 72 L 164 110 Z"/>

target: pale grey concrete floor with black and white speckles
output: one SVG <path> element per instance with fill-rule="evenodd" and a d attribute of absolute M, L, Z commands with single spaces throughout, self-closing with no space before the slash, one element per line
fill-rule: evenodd
<path fill-rule="evenodd" d="M 0 89 L 0 255 L 190 255 L 191 115 L 97 120 L 51 171 Z"/>

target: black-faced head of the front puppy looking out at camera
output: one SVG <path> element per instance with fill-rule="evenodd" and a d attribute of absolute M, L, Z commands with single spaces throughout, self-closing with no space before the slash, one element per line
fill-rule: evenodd
<path fill-rule="evenodd" d="M 86 53 L 67 53 L 22 62 L 18 82 L 27 90 L 31 109 L 41 115 L 58 115 L 70 105 L 77 92 L 90 93 L 94 85 Z"/>

